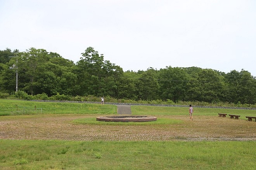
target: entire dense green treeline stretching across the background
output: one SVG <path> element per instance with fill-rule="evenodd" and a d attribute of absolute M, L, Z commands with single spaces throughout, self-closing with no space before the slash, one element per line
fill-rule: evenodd
<path fill-rule="evenodd" d="M 11 57 L 12 56 L 12 57 Z M 131 100 L 256 104 L 256 77 L 198 67 L 123 71 L 88 47 L 77 63 L 45 49 L 0 50 L 0 93 L 110 96 Z"/>

